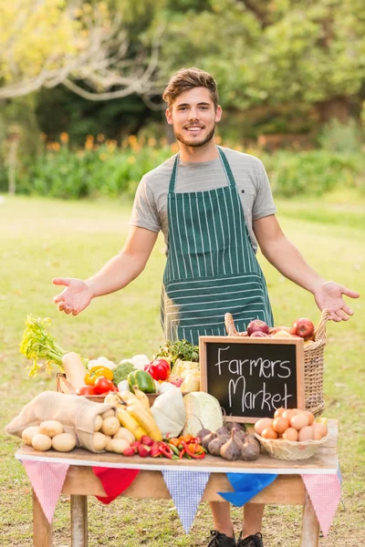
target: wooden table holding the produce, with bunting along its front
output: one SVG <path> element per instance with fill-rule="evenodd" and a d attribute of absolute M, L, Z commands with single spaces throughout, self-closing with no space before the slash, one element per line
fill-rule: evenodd
<path fill-rule="evenodd" d="M 68 463 L 68 473 L 62 493 L 71 498 L 71 545 L 88 546 L 88 496 L 105 496 L 106 493 L 91 467 L 140 469 L 130 487 L 121 494 L 129 498 L 169 499 L 170 492 L 161 470 L 210 471 L 210 479 L 203 493 L 203 501 L 224 501 L 218 491 L 233 491 L 226 472 L 276 473 L 276 480 L 259 492 L 250 503 L 272 505 L 303 505 L 300 547 L 318 547 L 319 525 L 301 475 L 337 473 L 337 420 L 328 420 L 328 442 L 322 445 L 311 459 L 286 461 L 261 454 L 254 462 L 226 461 L 214 456 L 203 460 L 170 460 L 127 458 L 113 453 L 92 454 L 88 450 L 74 449 L 62 454 L 53 450 L 37 452 L 24 446 L 16 451 L 17 459 Z M 52 525 L 33 491 L 34 547 L 52 547 Z"/>

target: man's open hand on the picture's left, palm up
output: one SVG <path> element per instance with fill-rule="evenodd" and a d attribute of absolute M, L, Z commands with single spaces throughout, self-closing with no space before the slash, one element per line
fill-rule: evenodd
<path fill-rule="evenodd" d="M 58 304 L 58 310 L 65 314 L 78 315 L 91 302 L 93 294 L 89 286 L 81 279 L 72 277 L 55 277 L 53 284 L 66 286 L 62 293 L 53 299 Z"/>

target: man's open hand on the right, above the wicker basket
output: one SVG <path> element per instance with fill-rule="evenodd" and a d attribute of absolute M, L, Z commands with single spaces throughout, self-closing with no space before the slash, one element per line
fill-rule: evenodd
<path fill-rule="evenodd" d="M 318 290 L 314 293 L 316 303 L 320 310 L 327 309 L 329 316 L 333 321 L 347 321 L 349 315 L 353 315 L 353 311 L 342 298 L 345 294 L 349 298 L 359 298 L 360 294 L 355 291 L 350 291 L 344 285 L 333 281 L 326 281 L 319 285 Z"/>

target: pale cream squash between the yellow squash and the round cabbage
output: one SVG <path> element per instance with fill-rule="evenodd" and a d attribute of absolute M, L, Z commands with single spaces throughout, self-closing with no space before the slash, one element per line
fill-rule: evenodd
<path fill-rule="evenodd" d="M 179 387 L 174 387 L 166 393 L 156 397 L 151 414 L 157 427 L 162 432 L 162 437 L 169 435 L 179 437 L 186 420 L 183 394 Z"/>

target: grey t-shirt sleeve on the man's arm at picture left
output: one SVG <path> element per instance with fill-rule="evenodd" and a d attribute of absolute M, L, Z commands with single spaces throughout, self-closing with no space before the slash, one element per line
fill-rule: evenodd
<path fill-rule="evenodd" d="M 130 226 L 139 226 L 151 230 L 151 232 L 160 232 L 161 230 L 160 216 L 146 176 L 142 177 L 136 191 L 130 215 Z"/>

